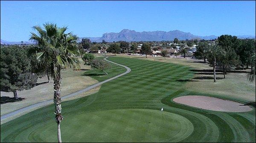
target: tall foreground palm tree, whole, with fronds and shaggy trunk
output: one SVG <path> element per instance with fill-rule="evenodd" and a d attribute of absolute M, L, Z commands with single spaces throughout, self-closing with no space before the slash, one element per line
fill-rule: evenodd
<path fill-rule="evenodd" d="M 60 123 L 63 120 L 61 115 L 61 68 L 79 68 L 79 50 L 76 47 L 78 37 L 72 33 L 65 34 L 67 27 L 59 28 L 56 24 L 46 23 L 44 28 L 33 27 L 38 35 L 31 32 L 30 40 L 38 43 L 40 52 L 36 52 L 38 64 L 47 70 L 54 81 L 53 102 L 55 106 L 55 121 L 58 130 L 58 142 L 61 143 Z"/>

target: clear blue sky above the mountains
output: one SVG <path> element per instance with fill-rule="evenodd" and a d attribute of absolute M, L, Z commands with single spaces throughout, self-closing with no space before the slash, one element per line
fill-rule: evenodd
<path fill-rule="evenodd" d="M 0 36 L 28 41 L 32 26 L 68 25 L 80 37 L 122 29 L 255 35 L 255 1 L 2 1 Z"/>

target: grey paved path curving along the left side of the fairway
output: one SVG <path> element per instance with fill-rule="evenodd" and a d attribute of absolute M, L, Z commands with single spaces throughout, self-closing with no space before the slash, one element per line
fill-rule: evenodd
<path fill-rule="evenodd" d="M 107 60 L 107 58 L 108 58 L 108 57 L 106 57 L 104 60 L 105 60 L 105 61 L 108 61 L 108 62 L 111 62 L 111 61 Z M 117 64 L 117 63 L 115 63 L 115 62 L 111 62 L 111 63 Z M 125 74 L 131 72 L 131 69 L 130 69 L 129 67 L 126 67 L 126 66 L 124 66 L 124 65 L 122 65 L 122 64 L 117 64 L 117 65 L 122 66 L 122 67 L 125 67 L 125 68 L 126 68 L 126 72 L 125 72 L 125 73 L 122 73 L 122 74 L 119 74 L 119 75 L 117 75 L 117 76 L 114 76 L 114 77 L 112 77 L 112 78 L 110 78 L 110 79 L 107 79 L 107 80 L 105 80 L 105 81 L 101 81 L 101 82 L 99 82 L 99 83 L 93 84 L 93 85 L 91 85 L 91 86 L 89 86 L 89 87 L 86 87 L 86 88 L 84 88 L 84 89 L 82 89 L 82 90 L 79 90 L 79 91 L 77 91 L 77 92 L 75 92 L 75 93 L 71 93 L 71 94 L 69 94 L 69 95 L 63 96 L 62 99 L 69 98 L 69 97 L 78 95 L 78 94 L 80 94 L 80 93 L 84 93 L 84 92 L 86 92 L 86 91 L 88 91 L 88 90 L 91 90 L 91 89 L 93 89 L 93 88 L 95 88 L 95 87 L 98 87 L 98 86 L 101 85 L 101 84 L 104 84 L 104 83 L 106 83 L 106 82 L 108 82 L 108 81 L 111 81 L 111 80 L 113 80 L 113 79 L 116 79 L 116 78 L 118 78 L 118 77 L 120 77 L 120 76 L 123 76 L 123 75 L 125 75 Z M 11 113 L 9 113 L 9 114 L 6 114 L 6 115 L 1 116 L 1 117 L 0 117 L 0 120 L 3 120 L 3 119 L 6 119 L 6 118 L 9 118 L 9 117 L 12 117 L 12 116 L 17 115 L 18 113 L 24 112 L 24 111 L 26 111 L 26 110 L 28 110 L 28 109 L 32 109 L 32 108 L 39 107 L 39 106 L 46 106 L 46 105 L 48 105 L 48 104 L 51 103 L 51 102 L 52 102 L 52 99 L 51 99 L 51 100 L 47 100 L 47 101 L 43 101 L 43 102 L 39 102 L 39 103 L 37 103 L 37 104 L 33 104 L 33 105 L 28 106 L 28 107 L 24 107 L 24 108 L 18 109 L 18 110 L 14 111 L 14 112 L 11 112 Z"/>

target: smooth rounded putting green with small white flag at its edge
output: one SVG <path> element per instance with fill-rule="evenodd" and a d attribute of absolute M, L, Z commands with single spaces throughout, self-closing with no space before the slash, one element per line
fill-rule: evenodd
<path fill-rule="evenodd" d="M 69 115 L 61 123 L 65 142 L 177 142 L 193 132 L 183 116 L 153 109 L 113 109 Z M 31 142 L 56 142 L 56 123 L 41 124 Z"/>

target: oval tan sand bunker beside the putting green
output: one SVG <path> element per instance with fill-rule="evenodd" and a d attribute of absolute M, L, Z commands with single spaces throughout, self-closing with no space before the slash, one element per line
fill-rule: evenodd
<path fill-rule="evenodd" d="M 246 112 L 253 109 L 239 102 L 200 95 L 180 96 L 174 98 L 173 101 L 192 107 L 222 112 Z"/>

